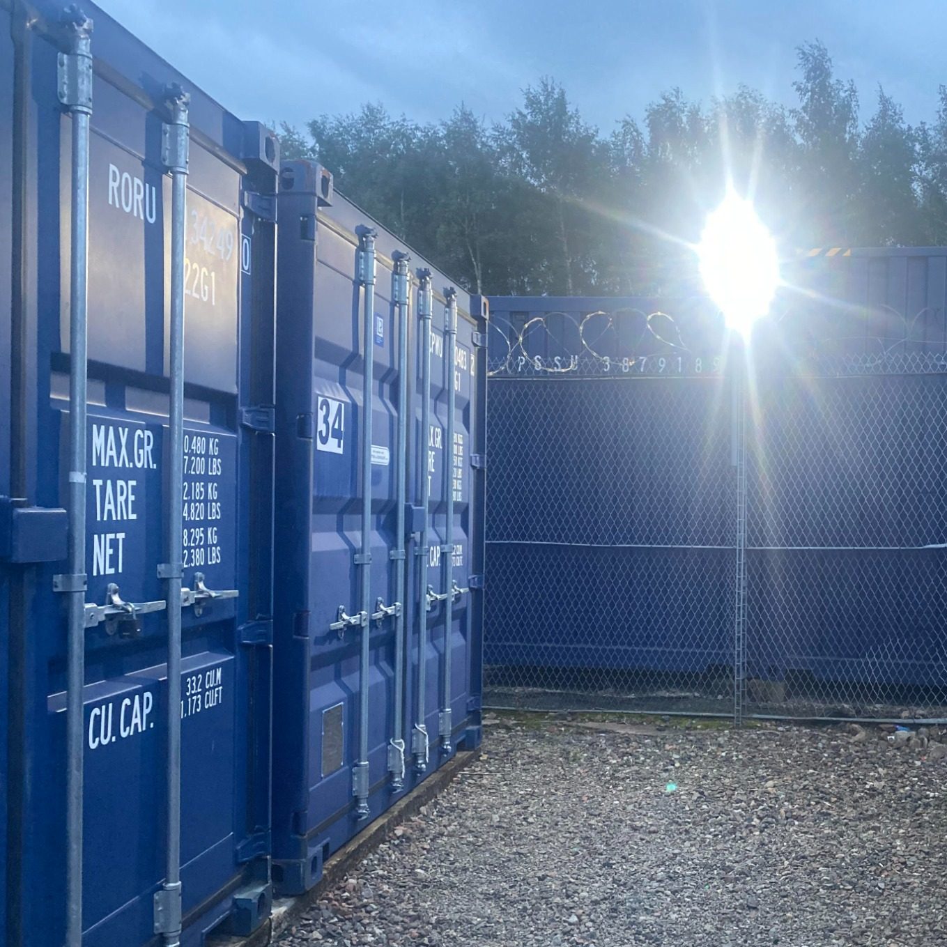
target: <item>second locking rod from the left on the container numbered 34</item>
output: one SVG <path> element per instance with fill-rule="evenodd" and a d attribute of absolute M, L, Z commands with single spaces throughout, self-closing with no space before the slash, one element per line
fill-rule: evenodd
<path fill-rule="evenodd" d="M 404 507 L 407 503 L 407 441 L 408 441 L 408 313 L 410 278 L 407 254 L 396 254 L 392 275 L 393 298 L 398 313 L 398 440 L 395 457 L 395 493 L 398 509 L 395 521 L 395 600 L 407 601 L 404 589 Z M 391 742 L 388 745 L 388 772 L 391 788 L 404 787 L 404 613 L 395 615 L 395 713 Z"/>

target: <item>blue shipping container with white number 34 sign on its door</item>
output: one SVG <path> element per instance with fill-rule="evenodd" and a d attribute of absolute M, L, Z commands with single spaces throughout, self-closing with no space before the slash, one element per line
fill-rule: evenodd
<path fill-rule="evenodd" d="M 487 311 L 317 165 L 283 164 L 279 218 L 274 879 L 297 892 L 479 742 Z"/>

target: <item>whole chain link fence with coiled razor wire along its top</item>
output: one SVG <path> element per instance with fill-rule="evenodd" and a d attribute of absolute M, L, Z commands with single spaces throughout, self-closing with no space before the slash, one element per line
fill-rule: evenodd
<path fill-rule="evenodd" d="M 494 314 L 486 703 L 947 717 L 947 359 L 646 305 Z"/>

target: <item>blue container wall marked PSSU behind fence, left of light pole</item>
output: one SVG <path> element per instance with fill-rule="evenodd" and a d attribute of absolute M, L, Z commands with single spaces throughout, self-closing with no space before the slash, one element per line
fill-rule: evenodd
<path fill-rule="evenodd" d="M 732 663 L 721 349 L 652 300 L 491 300 L 488 664 Z"/>

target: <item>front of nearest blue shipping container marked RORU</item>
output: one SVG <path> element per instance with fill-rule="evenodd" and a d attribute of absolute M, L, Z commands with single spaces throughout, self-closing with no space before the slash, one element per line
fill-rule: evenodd
<path fill-rule="evenodd" d="M 71 239 L 82 229 L 72 208 L 84 205 L 74 181 L 89 25 L 75 10 L 38 7 L 0 8 L 0 328 L 12 340 L 0 345 L 5 942 L 66 941 L 78 881 L 73 871 L 67 884 L 67 866 L 81 841 L 86 947 L 173 932 L 169 855 L 181 866 L 184 942 L 197 944 L 221 922 L 249 930 L 268 910 L 276 141 L 83 5 L 93 21 L 88 397 L 84 429 L 73 430 L 81 362 L 70 313 L 81 294 L 70 287 L 81 288 L 86 243 Z M 183 177 L 171 170 L 183 170 L 188 138 L 184 216 L 172 180 Z M 187 311 L 181 431 L 175 267 Z M 84 535 L 84 563 L 70 571 L 64 508 L 83 489 L 86 528 L 74 538 Z M 79 599 L 70 631 L 66 604 Z M 169 706 L 178 613 L 180 714 L 176 698 Z M 84 718 L 70 758 L 75 642 Z M 70 768 L 70 787 L 84 779 L 71 828 Z"/>

